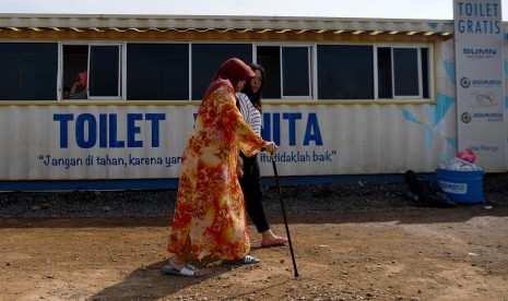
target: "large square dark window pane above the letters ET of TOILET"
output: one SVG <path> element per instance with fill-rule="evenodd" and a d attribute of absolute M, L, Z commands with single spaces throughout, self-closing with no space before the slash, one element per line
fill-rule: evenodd
<path fill-rule="evenodd" d="M 127 99 L 188 100 L 188 44 L 129 44 Z"/>

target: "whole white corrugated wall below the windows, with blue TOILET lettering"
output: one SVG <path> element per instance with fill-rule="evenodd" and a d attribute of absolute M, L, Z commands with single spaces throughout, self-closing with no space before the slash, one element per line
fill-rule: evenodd
<path fill-rule="evenodd" d="M 192 105 L 0 107 L 4 149 L 0 179 L 177 178 L 179 161 L 167 166 L 166 159 L 181 156 L 197 109 Z M 281 176 L 434 171 L 448 147 L 440 131 L 445 127 L 445 132 L 452 132 L 454 123 L 453 112 L 448 112 L 446 119 L 451 121 L 438 131 L 429 119 L 435 110 L 434 105 L 265 105 L 264 134 L 267 140 L 280 137 Z M 155 134 L 157 146 L 151 144 L 153 123 L 146 113 L 164 116 Z M 63 115 L 67 121 L 59 121 Z M 133 115 L 135 121 L 128 125 Z M 291 115 L 297 118 L 290 122 Z M 128 145 L 129 140 L 143 145 Z M 123 145 L 115 146 L 118 141 Z M 267 157 L 260 155 L 261 168 L 271 174 Z M 162 161 L 137 165 L 131 158 Z"/>

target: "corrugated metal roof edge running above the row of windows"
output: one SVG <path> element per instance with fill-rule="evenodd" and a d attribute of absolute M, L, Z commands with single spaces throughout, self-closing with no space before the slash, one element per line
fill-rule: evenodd
<path fill-rule="evenodd" d="M 232 28 L 450 34 L 451 21 L 217 15 L 0 14 L 0 28 Z"/>

